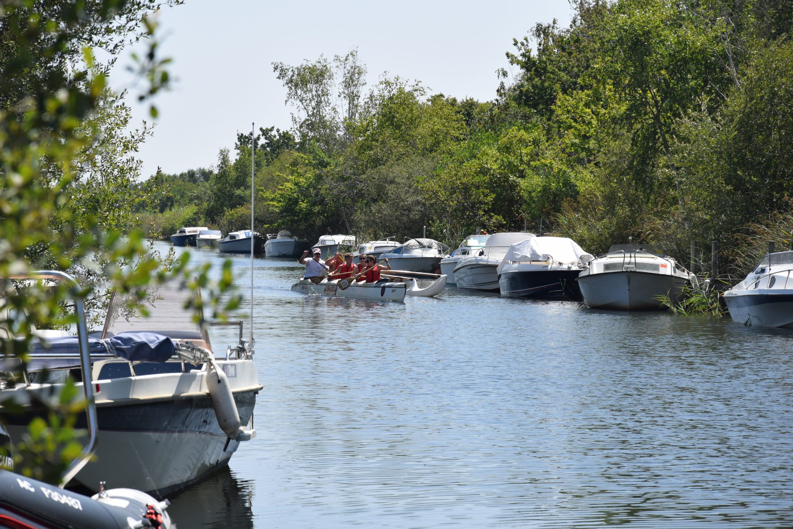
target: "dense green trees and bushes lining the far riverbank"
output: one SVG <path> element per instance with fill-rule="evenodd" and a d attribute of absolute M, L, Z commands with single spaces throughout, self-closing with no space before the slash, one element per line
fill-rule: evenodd
<path fill-rule="evenodd" d="M 593 253 L 633 236 L 684 262 L 690 240 L 719 240 L 722 270 L 753 266 L 757 226 L 790 243 L 775 228 L 793 191 L 788 4 L 580 0 L 569 27 L 513 41 L 488 102 L 391 75 L 367 87 L 355 51 L 275 63 L 293 128 L 239 135 L 211 171 L 158 174 L 168 198 L 143 227 L 241 228 L 252 140 L 262 232 L 401 239 L 427 225 L 454 243 L 525 224 Z"/>

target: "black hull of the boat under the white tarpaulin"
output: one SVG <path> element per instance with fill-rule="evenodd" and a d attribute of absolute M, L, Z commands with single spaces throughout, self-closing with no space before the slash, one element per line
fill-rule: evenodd
<path fill-rule="evenodd" d="M 580 298 L 578 274 L 581 270 L 515 270 L 499 276 L 504 297 Z"/>

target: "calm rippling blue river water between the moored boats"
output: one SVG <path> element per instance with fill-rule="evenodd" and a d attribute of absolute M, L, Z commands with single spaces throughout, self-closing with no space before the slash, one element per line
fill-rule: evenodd
<path fill-rule="evenodd" d="M 793 527 L 793 332 L 254 266 L 259 437 L 170 496 L 179 527 Z"/>

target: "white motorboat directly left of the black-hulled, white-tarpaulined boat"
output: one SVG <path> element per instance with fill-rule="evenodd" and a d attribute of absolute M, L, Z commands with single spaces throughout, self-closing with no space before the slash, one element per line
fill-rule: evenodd
<path fill-rule="evenodd" d="M 454 267 L 454 279 L 458 289 L 498 290 L 498 272 L 509 247 L 522 240 L 534 237 L 533 233 L 494 233 L 479 250 L 470 251 Z"/>

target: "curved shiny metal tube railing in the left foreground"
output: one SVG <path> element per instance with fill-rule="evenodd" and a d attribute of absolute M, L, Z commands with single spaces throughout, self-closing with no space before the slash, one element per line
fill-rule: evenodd
<path fill-rule="evenodd" d="M 86 310 L 80 295 L 80 285 L 75 278 L 66 272 L 59 270 L 36 270 L 26 274 L 13 274 L 9 279 L 36 279 L 51 280 L 66 283 L 69 286 L 69 295 L 75 303 L 75 315 L 77 316 L 77 343 L 80 357 L 80 370 L 82 372 L 82 392 L 86 397 L 86 416 L 88 426 L 88 442 L 82 448 L 80 455 L 71 462 L 67 470 L 61 474 L 59 488 L 63 489 L 73 477 L 82 470 L 82 467 L 89 462 L 94 455 L 97 446 L 97 408 L 94 402 L 94 385 L 91 380 L 91 359 L 88 349 L 88 328 L 86 327 Z M 88 383 L 86 383 L 88 381 Z"/>

